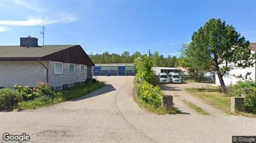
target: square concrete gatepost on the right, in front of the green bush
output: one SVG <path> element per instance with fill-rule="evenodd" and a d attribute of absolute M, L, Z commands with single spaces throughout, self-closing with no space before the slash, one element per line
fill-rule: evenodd
<path fill-rule="evenodd" d="M 231 97 L 231 112 L 245 111 L 244 97 Z"/>

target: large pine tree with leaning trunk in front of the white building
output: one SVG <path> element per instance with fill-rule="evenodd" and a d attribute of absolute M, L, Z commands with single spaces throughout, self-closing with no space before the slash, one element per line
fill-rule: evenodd
<path fill-rule="evenodd" d="M 194 63 L 192 67 L 217 71 L 222 90 L 227 94 L 224 74 L 254 64 L 255 54 L 250 53 L 249 44 L 232 25 L 226 25 L 220 19 L 210 19 L 193 33 L 191 43 L 183 47 L 182 52 L 190 63 Z"/>

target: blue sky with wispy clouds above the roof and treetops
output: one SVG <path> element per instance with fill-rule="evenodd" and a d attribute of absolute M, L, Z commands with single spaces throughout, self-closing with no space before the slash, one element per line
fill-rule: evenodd
<path fill-rule="evenodd" d="M 179 56 L 183 43 L 211 18 L 256 41 L 256 0 L 224 1 L 0 1 L 0 45 L 19 37 L 45 45 L 80 44 L 89 53 L 135 51 Z M 1 52 L 1 51 L 0 51 Z"/>

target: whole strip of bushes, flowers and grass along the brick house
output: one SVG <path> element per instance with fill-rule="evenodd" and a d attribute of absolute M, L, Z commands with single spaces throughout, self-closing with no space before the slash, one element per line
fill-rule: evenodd
<path fill-rule="evenodd" d="M 104 82 L 96 81 L 59 91 L 52 91 L 48 84 L 42 82 L 37 82 L 37 86 L 33 89 L 16 85 L 16 90 L 0 89 L 0 110 L 32 109 L 40 106 L 49 106 L 81 97 L 93 90 L 100 89 L 104 85 Z"/>

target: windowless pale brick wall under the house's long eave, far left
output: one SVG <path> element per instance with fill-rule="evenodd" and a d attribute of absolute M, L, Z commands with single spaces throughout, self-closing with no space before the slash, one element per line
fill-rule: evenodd
<path fill-rule="evenodd" d="M 46 82 L 46 69 L 39 61 L 0 61 L 0 87 L 35 87 L 37 81 Z"/>

